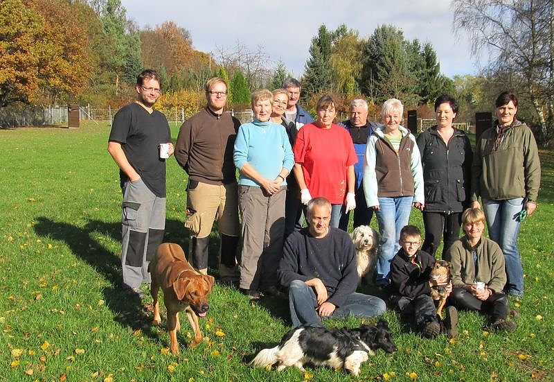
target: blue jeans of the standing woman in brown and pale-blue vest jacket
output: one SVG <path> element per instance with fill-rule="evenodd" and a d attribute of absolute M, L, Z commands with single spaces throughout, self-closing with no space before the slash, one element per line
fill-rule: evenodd
<path fill-rule="evenodd" d="M 381 243 L 377 252 L 377 277 L 375 284 L 386 286 L 391 273 L 391 261 L 400 250 L 400 230 L 410 220 L 411 203 L 413 196 L 400 196 L 398 198 L 378 198 L 379 209 L 375 210 Z"/>

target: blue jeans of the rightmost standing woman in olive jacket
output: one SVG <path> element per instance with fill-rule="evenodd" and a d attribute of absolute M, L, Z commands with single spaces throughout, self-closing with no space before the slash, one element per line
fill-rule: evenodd
<path fill-rule="evenodd" d="M 500 245 L 506 259 L 506 276 L 508 282 L 504 287 L 512 295 L 521 297 L 524 294 L 524 269 L 517 246 L 519 220 L 517 214 L 524 208 L 524 198 L 508 200 L 483 199 L 483 209 L 487 218 L 489 236 Z"/>

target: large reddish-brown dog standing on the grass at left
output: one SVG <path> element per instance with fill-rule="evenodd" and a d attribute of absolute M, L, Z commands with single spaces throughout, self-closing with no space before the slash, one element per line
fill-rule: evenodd
<path fill-rule="evenodd" d="M 168 331 L 172 354 L 179 354 L 177 346 L 177 331 L 181 330 L 179 312 L 185 311 L 186 318 L 195 332 L 190 347 L 195 347 L 202 341 L 202 331 L 198 325 L 198 317 L 206 316 L 210 309 L 208 295 L 212 291 L 215 279 L 212 276 L 197 272 L 185 258 L 181 245 L 162 243 L 148 266 L 152 275 L 150 293 L 154 299 L 154 319 L 152 324 L 159 325 L 160 306 L 158 302 L 159 288 L 163 290 L 163 302 L 168 311 Z"/>

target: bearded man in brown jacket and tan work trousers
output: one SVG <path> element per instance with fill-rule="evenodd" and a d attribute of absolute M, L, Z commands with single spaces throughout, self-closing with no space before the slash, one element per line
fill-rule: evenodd
<path fill-rule="evenodd" d="M 240 121 L 224 112 L 227 83 L 211 78 L 206 83 L 204 110 L 181 125 L 175 158 L 188 173 L 187 218 L 190 260 L 199 272 L 208 272 L 208 244 L 213 222 L 221 236 L 219 271 L 224 283 L 235 274 L 240 225 L 233 145 Z"/>

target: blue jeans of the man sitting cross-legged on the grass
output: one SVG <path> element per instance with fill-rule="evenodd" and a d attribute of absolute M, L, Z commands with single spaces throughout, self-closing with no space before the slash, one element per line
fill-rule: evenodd
<path fill-rule="evenodd" d="M 289 309 L 293 327 L 309 325 L 322 327 L 321 316 L 317 313 L 317 298 L 311 286 L 304 281 L 294 280 L 289 285 Z M 351 293 L 342 306 L 337 306 L 329 318 L 369 318 L 382 315 L 386 311 L 385 302 L 379 297 Z"/>

